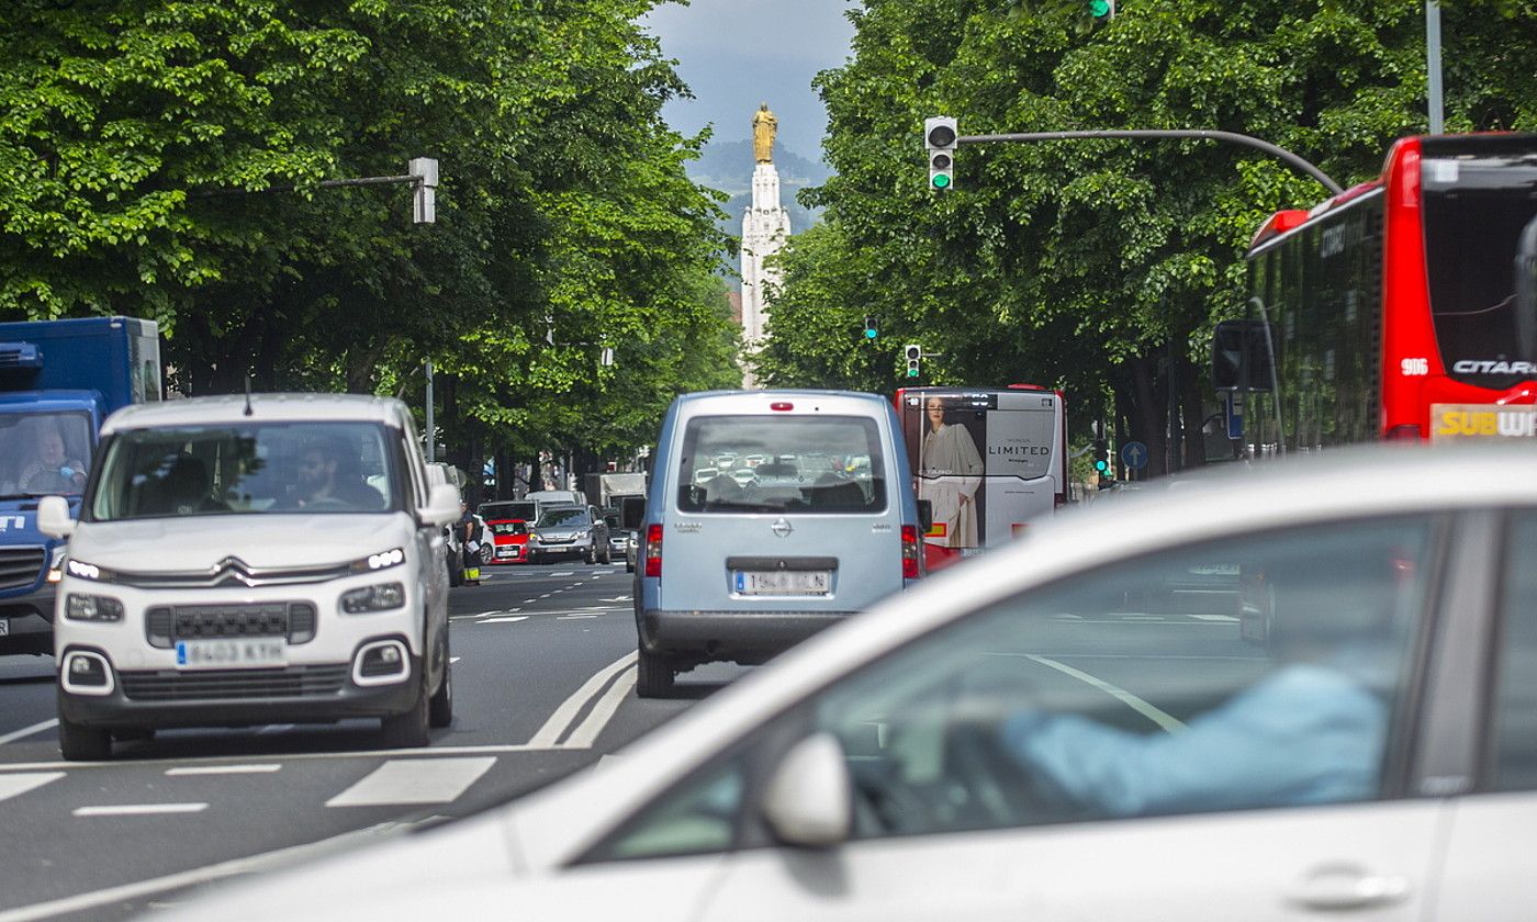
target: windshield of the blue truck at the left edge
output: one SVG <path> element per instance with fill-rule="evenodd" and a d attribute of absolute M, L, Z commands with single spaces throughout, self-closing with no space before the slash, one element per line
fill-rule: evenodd
<path fill-rule="evenodd" d="M 0 495 L 78 495 L 91 441 L 86 413 L 0 413 Z"/>

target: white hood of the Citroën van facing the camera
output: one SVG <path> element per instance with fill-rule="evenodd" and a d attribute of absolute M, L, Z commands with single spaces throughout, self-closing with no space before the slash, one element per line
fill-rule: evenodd
<path fill-rule="evenodd" d="M 128 572 L 211 570 L 224 558 L 249 567 L 344 564 L 406 546 L 406 513 L 207 515 L 88 522 L 69 536 L 69 556 Z"/>

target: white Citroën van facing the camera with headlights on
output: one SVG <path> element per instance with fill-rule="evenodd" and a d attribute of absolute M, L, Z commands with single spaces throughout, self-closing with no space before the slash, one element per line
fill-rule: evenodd
<path fill-rule="evenodd" d="M 410 412 L 251 395 L 108 418 L 57 601 L 58 741 L 101 759 L 160 727 L 381 718 L 390 747 L 453 716 L 443 526 Z M 54 501 L 60 499 L 60 501 Z"/>

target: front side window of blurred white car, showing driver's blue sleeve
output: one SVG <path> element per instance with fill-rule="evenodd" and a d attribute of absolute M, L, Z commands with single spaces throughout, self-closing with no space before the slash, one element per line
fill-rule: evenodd
<path fill-rule="evenodd" d="M 816 702 L 855 834 L 1379 798 L 1429 535 L 1396 518 L 1194 546 L 910 645 Z"/>

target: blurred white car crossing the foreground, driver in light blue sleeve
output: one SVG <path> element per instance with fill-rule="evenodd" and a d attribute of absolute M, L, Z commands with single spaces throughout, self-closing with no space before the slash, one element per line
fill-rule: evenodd
<path fill-rule="evenodd" d="M 1529 919 L 1534 461 L 1062 515 L 596 770 L 171 916 Z"/>

